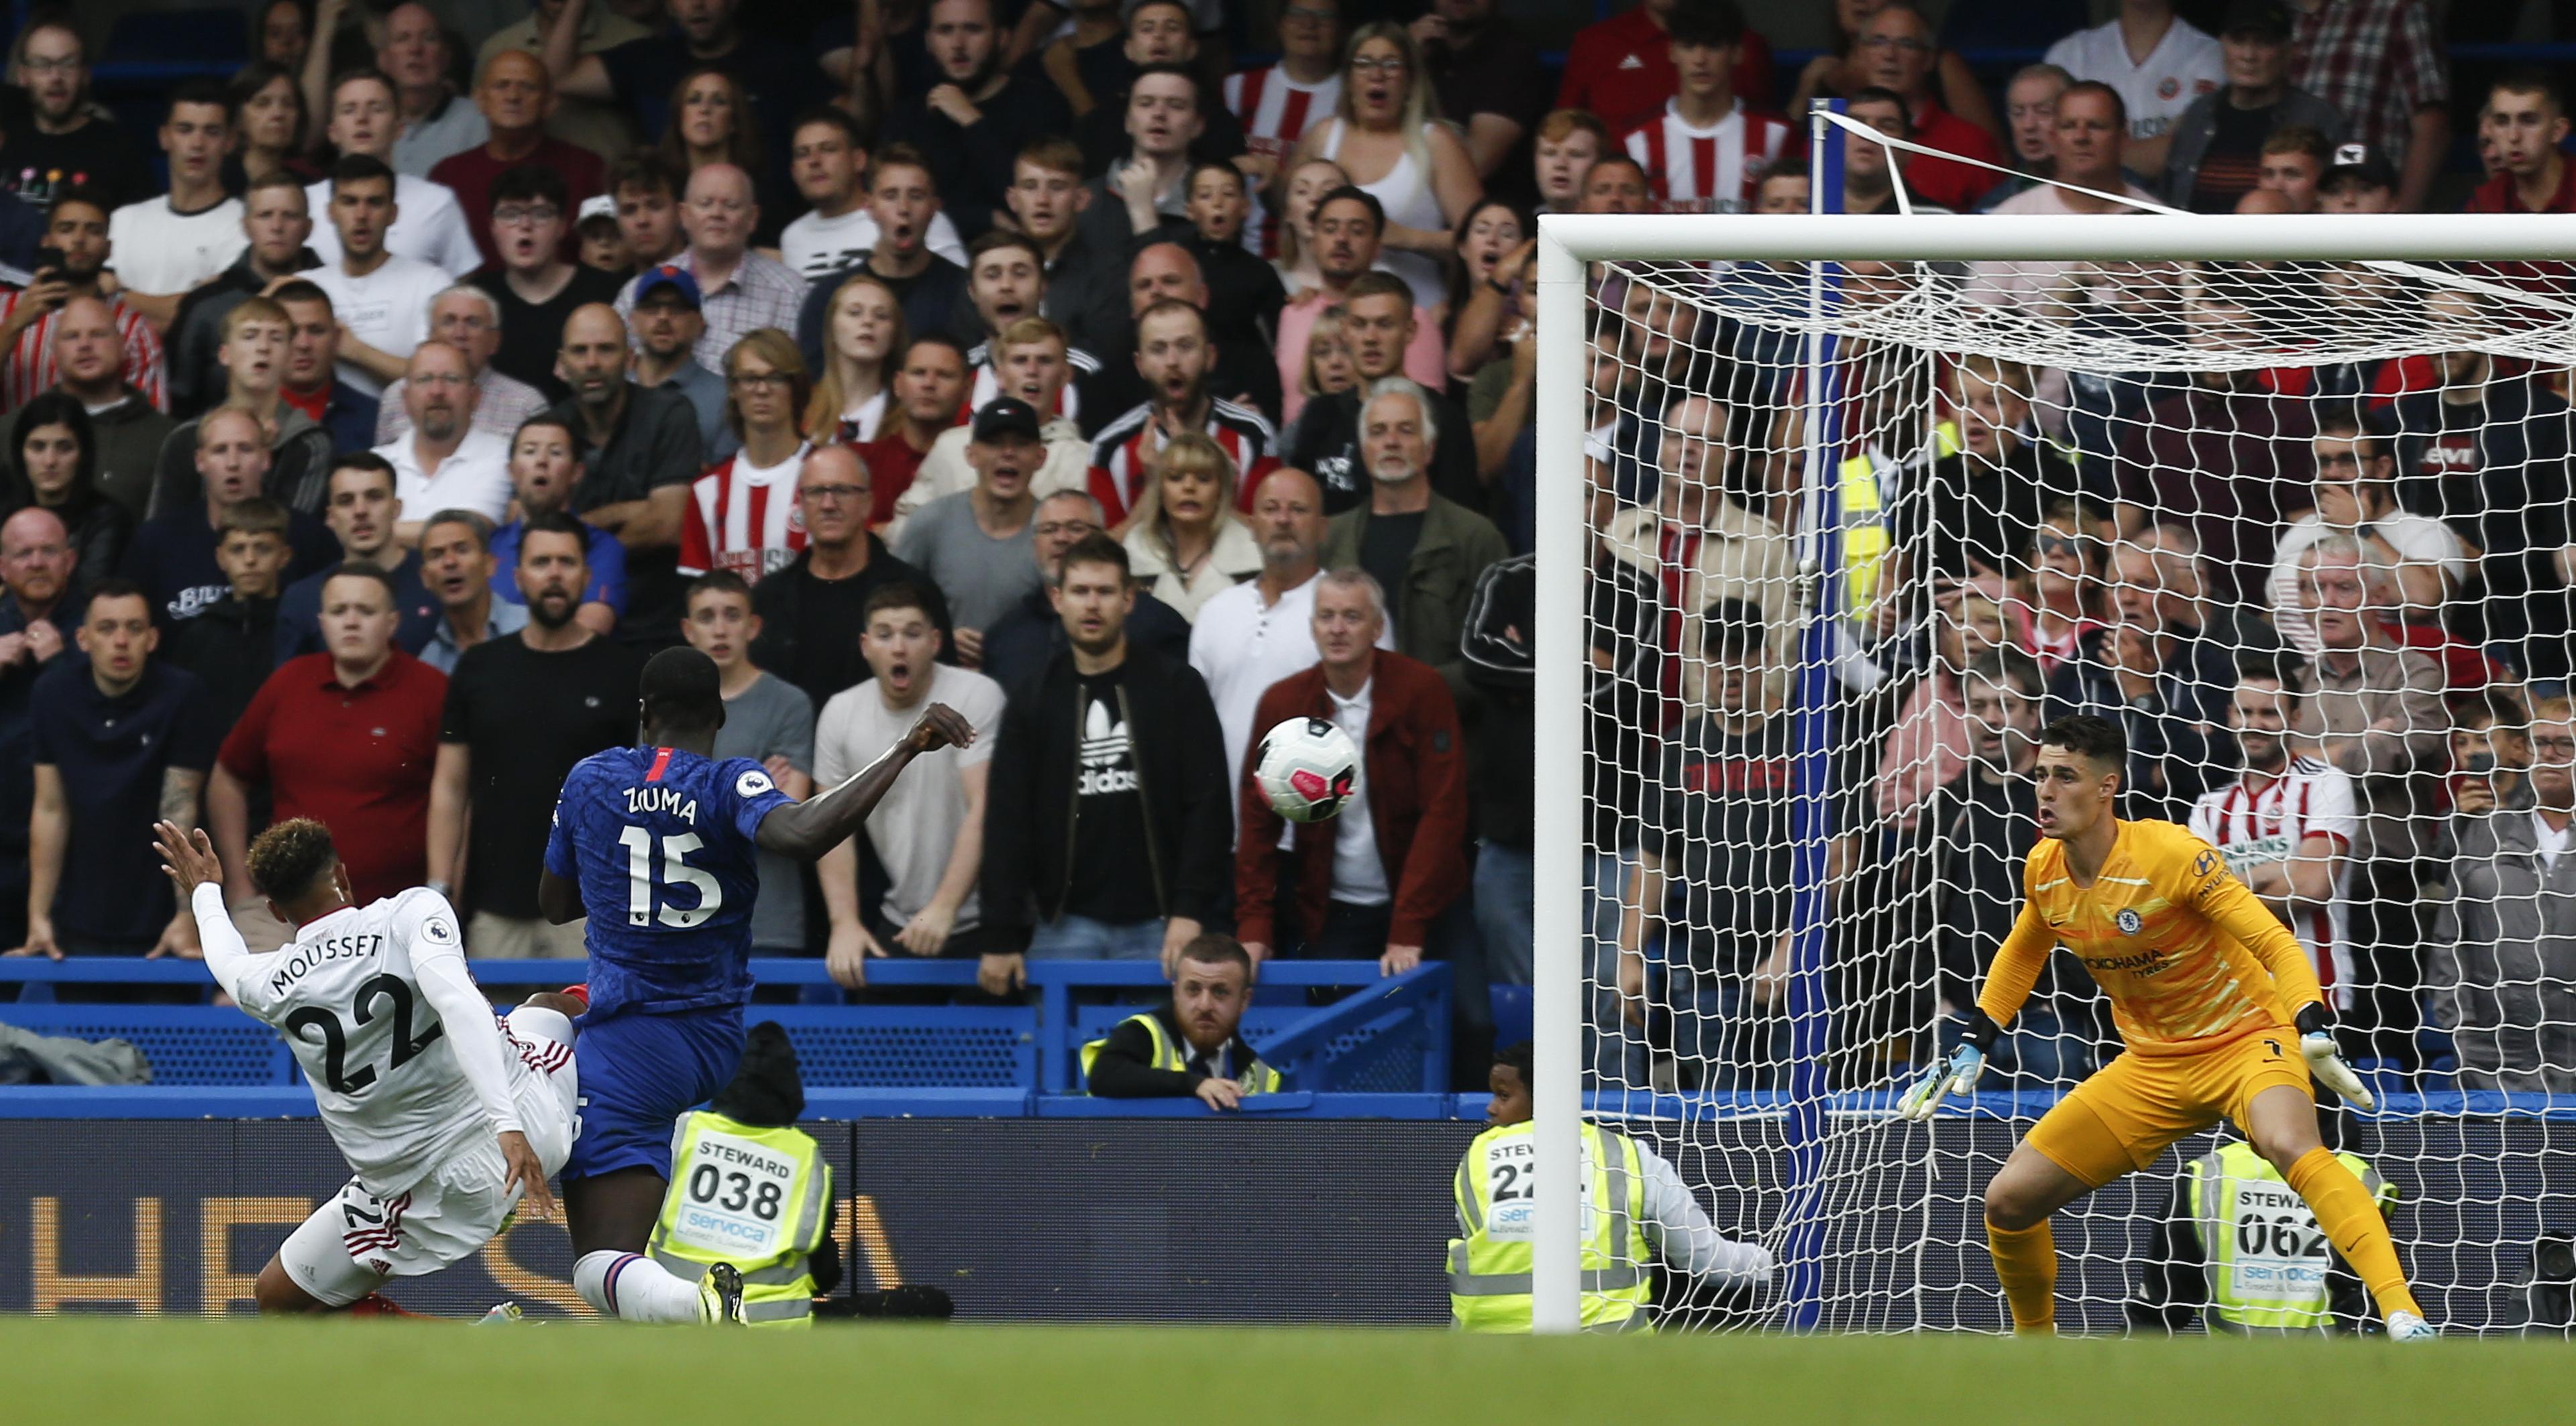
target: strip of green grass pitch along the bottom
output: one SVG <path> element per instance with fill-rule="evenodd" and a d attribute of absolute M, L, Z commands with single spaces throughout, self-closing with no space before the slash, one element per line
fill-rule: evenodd
<path fill-rule="evenodd" d="M 0 1323 L 0 1418 L 155 1426 L 1641 1426 L 2576 1418 L 2550 1341 L 1461 1338 L 1306 1328 Z"/>

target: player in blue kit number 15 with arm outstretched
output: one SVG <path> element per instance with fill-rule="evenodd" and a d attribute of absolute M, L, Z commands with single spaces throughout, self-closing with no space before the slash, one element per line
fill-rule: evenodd
<path fill-rule="evenodd" d="M 714 759 L 716 664 L 665 649 L 644 664 L 644 746 L 585 757 L 564 777 L 538 906 L 590 914 L 582 1122 L 564 1163 L 572 1284 L 600 1313 L 688 1323 L 732 1315 L 644 1254 L 670 1189 L 670 1127 L 734 1076 L 752 996 L 757 852 L 817 860 L 850 839 L 920 754 L 974 741 L 933 703 L 904 741 L 809 803 L 747 757 Z M 719 1284 L 726 1287 L 726 1284 Z"/>

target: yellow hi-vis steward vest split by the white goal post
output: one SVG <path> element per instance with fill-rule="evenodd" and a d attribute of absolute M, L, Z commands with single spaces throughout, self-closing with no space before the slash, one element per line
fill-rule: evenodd
<path fill-rule="evenodd" d="M 1646 1174 L 1636 1140 L 1584 1125 L 1584 1331 L 1654 1331 L 1646 1302 Z M 1538 1230 L 1538 1143 L 1530 1125 L 1476 1135 L 1458 1161 L 1458 1238 L 1450 1238 L 1450 1323 L 1530 1331 L 1530 1241 Z"/>

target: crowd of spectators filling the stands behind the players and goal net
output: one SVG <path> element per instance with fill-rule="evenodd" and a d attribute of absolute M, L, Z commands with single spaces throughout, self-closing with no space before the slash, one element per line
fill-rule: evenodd
<path fill-rule="evenodd" d="M 1533 960 L 1538 214 L 1806 211 L 1814 98 L 1906 142 L 1850 144 L 1860 214 L 2424 208 L 2450 147 L 2421 0 L 2192 8 L 2215 31 L 2123 0 L 1991 95 L 1909 0 L 1842 0 L 1795 72 L 1734 0 L 1643 0 L 1556 85 L 1494 0 L 466 10 L 258 5 L 252 62 L 173 85 L 149 136 L 90 90 L 98 26 L 13 41 L 13 952 L 188 952 L 142 829 L 211 826 L 247 906 L 247 837 L 317 816 L 361 898 L 430 883 L 474 955 L 572 955 L 533 903 L 554 788 L 688 641 L 719 752 L 788 790 L 925 700 L 984 734 L 817 873 L 765 865 L 762 952 L 850 991 L 873 958 L 974 958 L 984 994 L 1226 929 L 1255 963 L 1437 958 L 1481 1079 L 1486 983 Z M 2566 136 L 2555 85 L 2501 80 L 2468 206 L 2576 211 Z M 1965 283 L 2089 322 L 2133 317 L 2133 275 Z M 1597 283 L 1592 1060 L 1765 1084 L 1816 474 L 1765 317 L 1806 278 Z M 2491 317 L 2455 299 L 2429 329 Z M 1824 450 L 1862 512 L 1826 860 L 1844 1063 L 1929 1050 L 1891 986 L 1965 1004 L 2032 731 L 2097 710 L 2130 728 L 2130 811 L 2195 819 L 2316 919 L 2360 1035 L 2411 1055 L 2442 976 L 2463 1063 L 2522 1073 L 2540 1035 L 2576 1084 L 2548 1053 L 2576 1030 L 2524 994 L 2558 914 L 2532 839 L 2555 865 L 2568 816 L 2566 384 L 2468 345 L 2254 366 L 1940 363 Z M 1247 790 L 1291 716 L 1363 749 L 1347 811 L 1293 834 Z M 2537 921 L 2460 903 L 2458 952 L 2416 965 L 2429 885 Z M 1868 970 L 1886 947 L 1919 973 Z M 2071 1073 L 2087 986 L 2043 991 L 2007 1055 Z"/>

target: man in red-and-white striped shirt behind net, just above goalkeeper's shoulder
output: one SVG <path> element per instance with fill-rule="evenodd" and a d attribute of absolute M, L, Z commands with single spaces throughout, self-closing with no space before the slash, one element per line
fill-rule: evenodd
<path fill-rule="evenodd" d="M 2316 958 L 2326 1004 L 2352 1009 L 2352 929 L 2344 878 L 2352 865 L 2352 777 L 2331 762 L 2290 757 L 2293 695 L 2275 669 L 2246 669 L 2228 703 L 2244 772 L 2192 803 L 2192 837 L 2218 847 L 2246 891 L 2262 898 Z"/>

